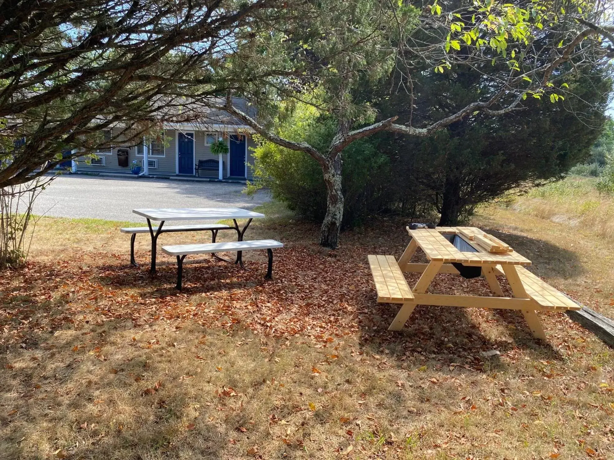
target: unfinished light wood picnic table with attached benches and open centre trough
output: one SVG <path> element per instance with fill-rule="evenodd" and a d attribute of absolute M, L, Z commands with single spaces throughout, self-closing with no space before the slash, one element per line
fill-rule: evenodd
<path fill-rule="evenodd" d="M 496 237 L 475 227 L 407 228 L 411 241 L 398 259 L 390 255 L 370 255 L 368 261 L 378 292 L 378 302 L 402 304 L 388 328 L 399 331 L 416 305 L 513 309 L 523 313 L 530 331 L 545 340 L 536 312 L 580 310 L 580 305 L 548 285 L 529 270 L 531 261 Z M 420 248 L 429 263 L 411 263 Z M 403 272 L 421 273 L 413 289 Z M 483 276 L 494 297 L 429 294 L 430 283 L 438 273 Z M 502 275 L 510 283 L 513 297 L 506 297 L 497 281 Z"/>

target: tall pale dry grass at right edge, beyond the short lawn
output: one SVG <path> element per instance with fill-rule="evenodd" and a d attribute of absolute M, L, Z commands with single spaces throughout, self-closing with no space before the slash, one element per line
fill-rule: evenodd
<path fill-rule="evenodd" d="M 596 236 L 614 240 L 614 196 L 600 194 L 596 178 L 568 177 L 535 188 L 508 205 L 520 213 L 589 229 Z"/>

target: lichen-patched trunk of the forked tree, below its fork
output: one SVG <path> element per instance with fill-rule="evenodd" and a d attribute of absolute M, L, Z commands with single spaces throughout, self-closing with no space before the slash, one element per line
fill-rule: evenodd
<path fill-rule="evenodd" d="M 339 242 L 341 220 L 343 219 L 343 191 L 341 190 L 341 155 L 327 159 L 322 164 L 326 185 L 326 215 L 320 231 L 320 244 L 335 249 Z"/>

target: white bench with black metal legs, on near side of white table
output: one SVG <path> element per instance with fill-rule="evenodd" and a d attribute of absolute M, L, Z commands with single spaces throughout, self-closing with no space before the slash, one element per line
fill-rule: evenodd
<path fill-rule="evenodd" d="M 276 240 L 251 240 L 251 241 L 231 241 L 223 243 L 205 243 L 205 244 L 179 244 L 173 246 L 163 246 L 162 250 L 169 256 L 177 258 L 177 285 L 175 286 L 181 291 L 181 281 L 183 275 L 183 262 L 185 256 L 190 254 L 213 254 L 225 251 L 251 251 L 251 250 L 266 250 L 268 253 L 268 269 L 266 270 L 266 279 L 271 279 L 273 274 L 273 249 L 284 247 L 283 243 Z"/>

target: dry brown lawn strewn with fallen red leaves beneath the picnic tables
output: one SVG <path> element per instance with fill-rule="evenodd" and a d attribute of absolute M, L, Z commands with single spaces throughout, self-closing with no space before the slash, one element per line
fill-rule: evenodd
<path fill-rule="evenodd" d="M 559 287 L 604 289 L 561 224 L 480 219 Z M 289 220 L 248 231 L 287 242 L 273 282 L 260 256 L 249 272 L 206 259 L 182 294 L 170 258 L 155 281 L 127 266 L 119 224 L 42 220 L 29 266 L 0 277 L 0 458 L 612 458 L 612 355 L 589 332 L 548 313 L 540 343 L 516 312 L 443 307 L 388 332 L 396 307 L 376 304 L 365 255 L 398 256 L 403 223 L 328 252 Z M 488 288 L 439 275 L 434 289 Z"/>

